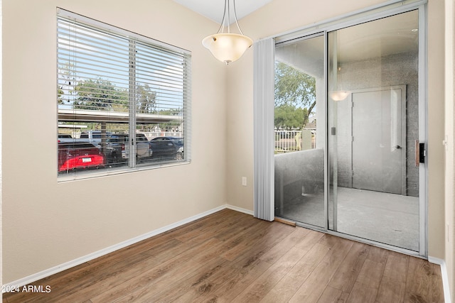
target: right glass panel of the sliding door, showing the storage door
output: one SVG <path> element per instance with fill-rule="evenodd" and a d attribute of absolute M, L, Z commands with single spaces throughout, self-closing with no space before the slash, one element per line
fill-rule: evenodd
<path fill-rule="evenodd" d="M 328 228 L 414 251 L 418 19 L 410 11 L 328 33 Z"/>

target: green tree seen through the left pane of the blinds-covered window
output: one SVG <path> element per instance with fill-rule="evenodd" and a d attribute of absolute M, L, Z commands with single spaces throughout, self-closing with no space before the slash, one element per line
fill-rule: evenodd
<path fill-rule="evenodd" d="M 128 106 L 128 92 L 117 89 L 106 79 L 84 80 L 77 83 L 75 91 L 77 95 L 75 109 L 109 111 L 117 104 Z"/>

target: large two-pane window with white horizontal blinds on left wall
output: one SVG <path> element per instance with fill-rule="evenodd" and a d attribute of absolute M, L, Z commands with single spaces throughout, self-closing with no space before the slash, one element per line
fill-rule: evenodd
<path fill-rule="evenodd" d="M 59 180 L 190 161 L 191 53 L 62 9 L 57 53 Z"/>

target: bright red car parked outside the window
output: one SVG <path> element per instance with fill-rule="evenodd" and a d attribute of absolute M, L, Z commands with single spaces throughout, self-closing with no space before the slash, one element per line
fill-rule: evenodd
<path fill-rule="evenodd" d="M 91 143 L 58 143 L 58 172 L 103 167 L 105 158 Z"/>

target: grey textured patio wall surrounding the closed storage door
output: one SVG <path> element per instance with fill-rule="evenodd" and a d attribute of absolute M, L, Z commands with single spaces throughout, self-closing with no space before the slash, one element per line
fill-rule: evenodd
<path fill-rule="evenodd" d="M 418 168 L 414 165 L 414 140 L 419 138 L 419 104 L 417 54 L 397 54 L 372 60 L 343 63 L 338 79 L 342 79 L 343 89 L 355 91 L 390 87 L 405 84 L 407 109 L 407 194 L 417 197 L 419 194 Z M 350 187 L 350 107 L 348 102 L 338 102 L 338 185 Z M 346 151 L 346 153 L 342 153 Z"/>

